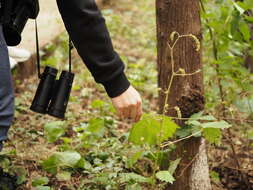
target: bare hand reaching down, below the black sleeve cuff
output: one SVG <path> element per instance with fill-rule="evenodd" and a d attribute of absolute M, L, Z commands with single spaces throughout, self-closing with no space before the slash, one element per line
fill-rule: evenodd
<path fill-rule="evenodd" d="M 141 97 L 132 86 L 118 97 L 112 98 L 112 104 L 121 118 L 137 122 L 142 116 Z"/>

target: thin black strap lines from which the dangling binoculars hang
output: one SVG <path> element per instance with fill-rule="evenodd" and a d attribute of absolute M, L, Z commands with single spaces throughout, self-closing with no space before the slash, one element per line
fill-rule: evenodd
<path fill-rule="evenodd" d="M 38 71 L 38 77 L 41 78 L 40 73 L 40 47 L 39 47 L 39 34 L 38 34 L 38 25 L 37 20 L 35 19 L 35 33 L 36 33 L 36 60 L 37 60 L 37 71 Z M 73 44 L 71 42 L 71 39 L 69 38 L 69 72 L 71 73 L 72 70 L 72 53 L 71 50 L 73 49 Z"/>

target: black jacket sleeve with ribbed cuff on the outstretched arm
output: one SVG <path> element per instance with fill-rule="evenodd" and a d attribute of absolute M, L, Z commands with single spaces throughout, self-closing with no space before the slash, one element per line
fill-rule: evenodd
<path fill-rule="evenodd" d="M 57 0 L 57 4 L 70 38 L 95 81 L 103 84 L 110 97 L 122 94 L 130 83 L 95 1 Z"/>

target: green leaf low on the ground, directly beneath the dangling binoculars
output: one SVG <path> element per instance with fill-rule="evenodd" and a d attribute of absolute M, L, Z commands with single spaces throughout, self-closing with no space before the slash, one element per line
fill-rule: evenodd
<path fill-rule="evenodd" d="M 62 121 L 50 122 L 44 126 L 48 142 L 50 143 L 55 142 L 59 137 L 61 137 L 65 133 L 63 126 L 64 122 Z"/>

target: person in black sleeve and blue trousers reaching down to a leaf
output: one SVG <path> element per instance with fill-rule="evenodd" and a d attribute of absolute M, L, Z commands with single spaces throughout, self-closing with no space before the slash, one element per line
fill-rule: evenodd
<path fill-rule="evenodd" d="M 1 1 L 1 0 L 0 0 Z M 142 115 L 140 94 L 124 73 L 105 19 L 94 0 L 57 0 L 58 8 L 82 60 L 96 82 L 101 83 L 122 118 L 138 121 Z M 8 49 L 0 24 L 0 150 L 14 115 L 14 93 Z"/>

